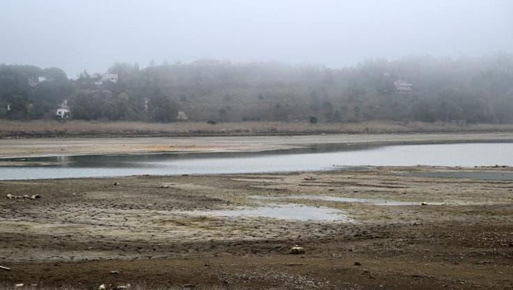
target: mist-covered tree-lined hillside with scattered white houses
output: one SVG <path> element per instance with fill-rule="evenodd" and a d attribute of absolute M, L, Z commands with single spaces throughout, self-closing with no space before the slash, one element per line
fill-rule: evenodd
<path fill-rule="evenodd" d="M 68 100 L 69 118 L 84 120 L 513 122 L 510 54 L 371 59 L 341 69 L 214 60 L 144 69 L 114 63 L 108 73 L 117 82 L 0 65 L 0 117 L 55 118 L 59 102 Z"/>

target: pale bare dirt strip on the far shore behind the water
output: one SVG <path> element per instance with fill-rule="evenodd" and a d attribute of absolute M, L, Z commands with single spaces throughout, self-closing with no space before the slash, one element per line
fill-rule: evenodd
<path fill-rule="evenodd" d="M 163 152 L 255 152 L 317 144 L 451 142 L 513 142 L 513 133 L 0 139 L 0 158 Z"/>

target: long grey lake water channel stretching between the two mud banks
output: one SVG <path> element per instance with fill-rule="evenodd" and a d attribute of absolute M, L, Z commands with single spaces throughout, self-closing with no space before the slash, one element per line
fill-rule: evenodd
<path fill-rule="evenodd" d="M 374 166 L 513 166 L 513 143 L 371 146 L 329 144 L 261 153 L 165 153 L 3 159 L 0 180 L 140 174 L 232 174 Z M 6 162 L 7 161 L 7 162 Z M 26 166 L 5 166 L 17 162 Z M 50 166 L 35 165 L 49 162 Z"/>

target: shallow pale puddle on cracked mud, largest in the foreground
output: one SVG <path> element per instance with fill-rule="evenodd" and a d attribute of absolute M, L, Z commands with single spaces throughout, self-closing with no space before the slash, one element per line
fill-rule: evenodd
<path fill-rule="evenodd" d="M 214 217 L 270 217 L 278 220 L 353 222 L 347 213 L 322 206 L 296 206 L 271 204 L 257 208 L 239 208 L 226 211 L 196 211 L 194 214 Z"/>

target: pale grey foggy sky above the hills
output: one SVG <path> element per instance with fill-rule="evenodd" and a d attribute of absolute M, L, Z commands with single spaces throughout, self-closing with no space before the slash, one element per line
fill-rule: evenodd
<path fill-rule="evenodd" d="M 0 0 L 0 63 L 76 77 L 116 61 L 329 67 L 513 52 L 511 0 Z"/>

